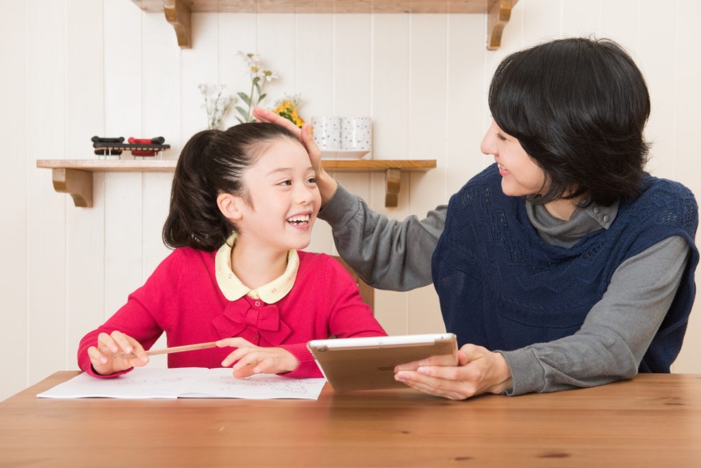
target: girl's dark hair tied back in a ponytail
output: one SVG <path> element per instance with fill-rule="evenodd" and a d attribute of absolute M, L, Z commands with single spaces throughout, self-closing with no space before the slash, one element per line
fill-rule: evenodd
<path fill-rule="evenodd" d="M 163 243 L 200 250 L 222 246 L 236 227 L 219 210 L 217 196 L 247 197 L 243 172 L 280 138 L 299 142 L 274 123 L 241 123 L 226 131 L 201 131 L 190 138 L 175 166 Z"/>

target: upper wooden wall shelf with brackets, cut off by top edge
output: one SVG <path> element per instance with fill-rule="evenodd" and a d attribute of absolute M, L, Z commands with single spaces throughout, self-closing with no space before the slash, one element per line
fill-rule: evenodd
<path fill-rule="evenodd" d="M 192 47 L 190 13 L 476 13 L 488 14 L 486 48 L 501 33 L 518 0 L 132 0 L 143 11 L 165 13 L 181 48 Z"/>

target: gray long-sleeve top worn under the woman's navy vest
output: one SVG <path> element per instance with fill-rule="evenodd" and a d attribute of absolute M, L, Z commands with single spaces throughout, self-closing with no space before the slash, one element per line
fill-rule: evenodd
<path fill-rule="evenodd" d="M 540 238 L 571 247 L 579 239 L 608 229 L 618 213 L 613 206 L 577 208 L 568 221 L 530 203 L 526 212 Z M 400 222 L 371 210 L 360 197 L 339 185 L 319 217 L 332 227 L 341 257 L 370 286 L 410 290 L 433 282 L 431 256 L 443 232 L 447 206 L 426 218 Z M 593 387 L 631 378 L 674 300 L 690 248 L 681 236 L 664 239 L 629 258 L 592 307 L 582 328 L 569 337 L 514 351 L 499 351 L 512 373 L 507 394 L 554 392 Z M 496 350 L 498 351 L 498 350 Z"/>

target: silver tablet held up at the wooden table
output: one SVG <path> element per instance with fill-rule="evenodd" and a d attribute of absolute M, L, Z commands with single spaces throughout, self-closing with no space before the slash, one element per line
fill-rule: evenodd
<path fill-rule="evenodd" d="M 336 392 L 405 388 L 394 378 L 398 364 L 442 354 L 458 362 L 453 333 L 312 340 L 307 347 Z"/>

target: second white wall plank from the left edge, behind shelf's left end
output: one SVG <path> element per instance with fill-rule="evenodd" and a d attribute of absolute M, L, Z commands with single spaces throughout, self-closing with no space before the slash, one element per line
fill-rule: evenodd
<path fill-rule="evenodd" d="M 27 371 L 29 383 L 65 364 L 65 209 L 72 204 L 53 192 L 50 171 L 35 160 L 65 156 L 66 5 L 27 2 Z M 50 36 L 46 39 L 46 32 Z M 52 352 L 50 350 L 61 350 Z"/>

